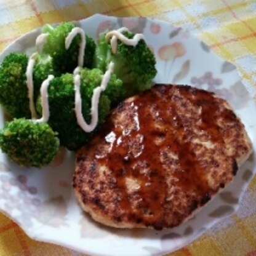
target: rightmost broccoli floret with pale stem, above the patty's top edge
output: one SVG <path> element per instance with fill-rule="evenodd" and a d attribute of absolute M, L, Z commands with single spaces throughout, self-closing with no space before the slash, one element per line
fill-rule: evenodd
<path fill-rule="evenodd" d="M 123 34 L 129 39 L 134 38 L 129 31 Z M 134 47 L 118 40 L 117 51 L 113 54 L 105 36 L 105 33 L 101 34 L 97 41 L 94 66 L 105 72 L 108 64 L 114 62 L 114 73 L 124 82 L 126 97 L 150 88 L 157 73 L 156 59 L 146 42 L 140 40 Z"/>

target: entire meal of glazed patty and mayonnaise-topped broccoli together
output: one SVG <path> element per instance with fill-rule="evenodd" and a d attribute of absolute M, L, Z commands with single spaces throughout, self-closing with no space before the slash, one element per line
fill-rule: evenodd
<path fill-rule="evenodd" d="M 158 84 L 143 34 L 105 31 L 97 41 L 71 22 L 42 28 L 35 52 L 0 66 L 9 121 L 0 147 L 26 167 L 76 152 L 82 209 L 108 226 L 172 228 L 233 180 L 252 151 L 226 100 Z M 71 181 L 70 181 L 71 182 Z"/>

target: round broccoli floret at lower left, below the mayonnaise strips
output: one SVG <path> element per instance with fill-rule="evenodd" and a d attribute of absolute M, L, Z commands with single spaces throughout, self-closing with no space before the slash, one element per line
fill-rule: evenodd
<path fill-rule="evenodd" d="M 58 153 L 59 140 L 49 124 L 20 118 L 0 130 L 0 147 L 20 166 L 41 168 Z"/>

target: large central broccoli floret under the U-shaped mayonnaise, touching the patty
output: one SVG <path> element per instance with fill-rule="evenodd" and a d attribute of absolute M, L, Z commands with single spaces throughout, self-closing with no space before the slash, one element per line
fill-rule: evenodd
<path fill-rule="evenodd" d="M 87 123 L 91 121 L 90 106 L 94 89 L 100 86 L 103 73 L 100 70 L 88 70 L 82 68 L 81 74 L 81 98 L 82 114 Z M 107 89 L 100 95 L 98 125 L 95 130 L 105 121 L 106 116 L 110 113 L 110 99 L 108 95 L 113 94 L 117 86 L 121 89 L 122 81 L 112 75 L 108 82 Z M 122 97 L 122 90 L 120 92 Z M 50 118 L 49 125 L 58 132 L 60 145 L 69 150 L 78 150 L 94 132 L 84 132 L 78 125 L 76 113 L 74 111 L 74 76 L 73 74 L 63 74 L 58 78 L 52 79 L 48 88 Z M 114 98 L 116 100 L 116 98 Z M 38 111 L 41 111 L 41 100 L 37 103 Z"/>

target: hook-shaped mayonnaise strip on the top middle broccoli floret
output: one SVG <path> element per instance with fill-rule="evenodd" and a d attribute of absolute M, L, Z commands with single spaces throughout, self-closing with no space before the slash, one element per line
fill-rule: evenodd
<path fill-rule="evenodd" d="M 71 42 L 73 41 L 74 37 L 80 34 L 81 35 L 81 42 L 79 47 L 79 55 L 78 55 L 78 66 L 84 65 L 84 50 L 86 47 L 86 35 L 84 34 L 84 30 L 82 28 L 73 28 L 71 32 L 68 34 L 65 40 L 65 47 L 68 49 L 70 47 Z"/>

